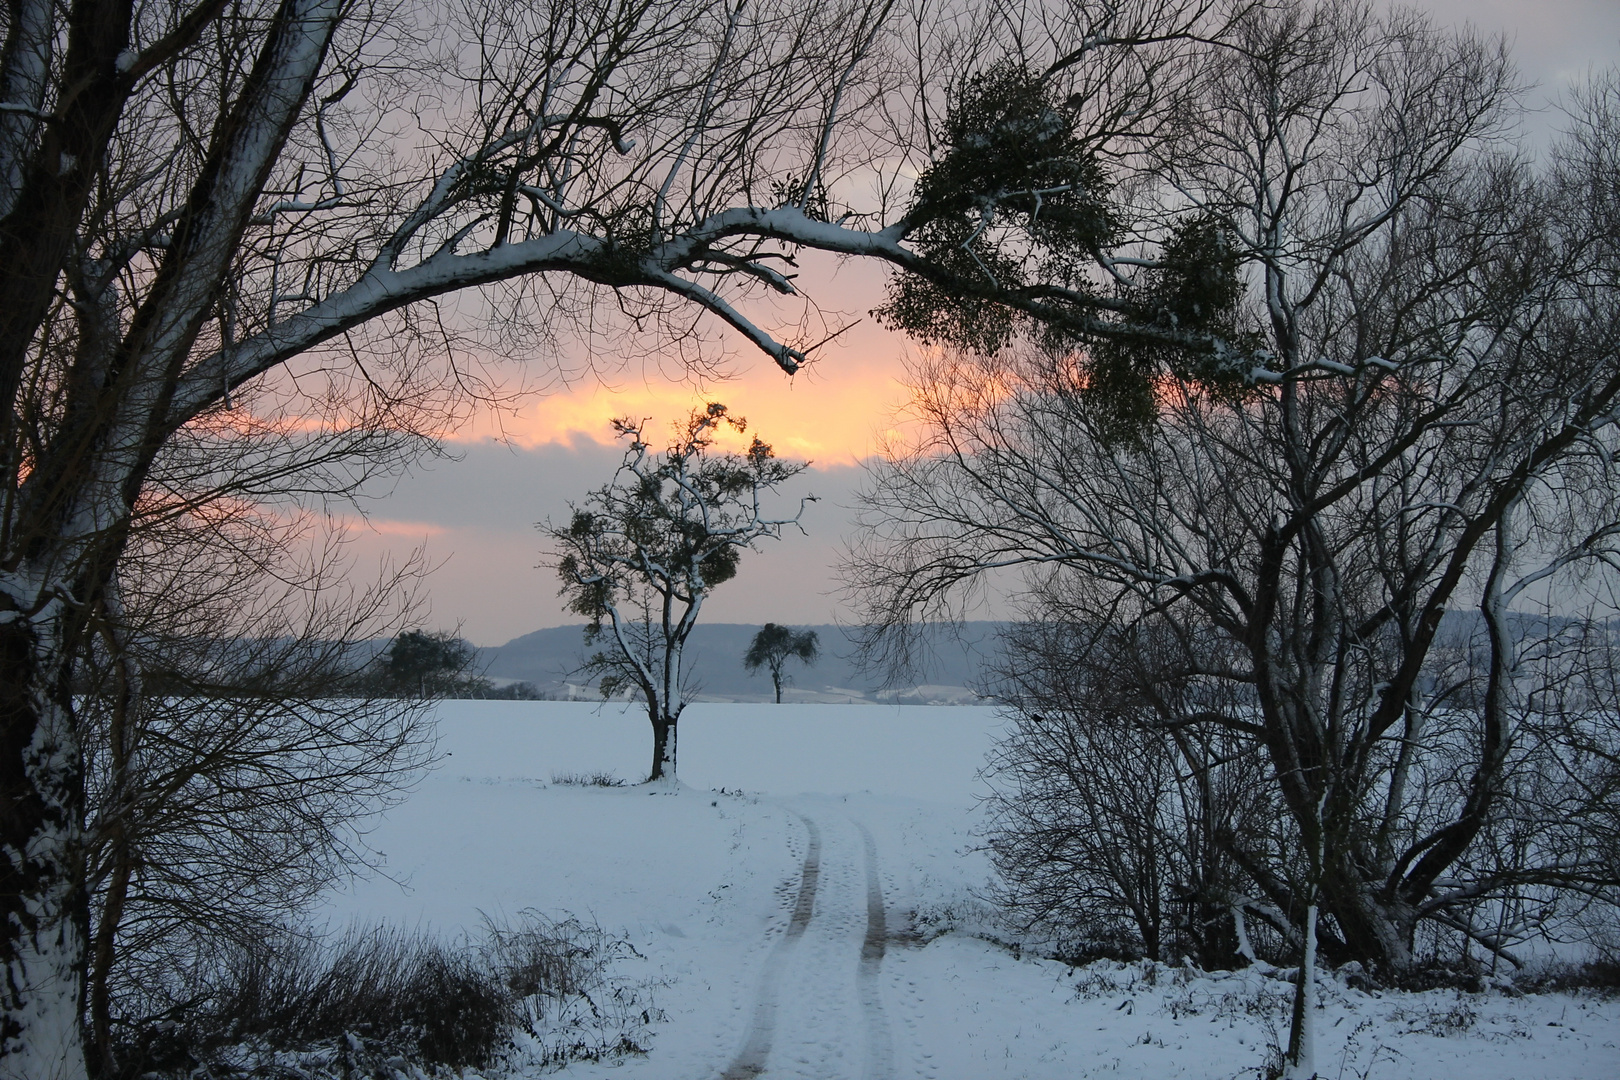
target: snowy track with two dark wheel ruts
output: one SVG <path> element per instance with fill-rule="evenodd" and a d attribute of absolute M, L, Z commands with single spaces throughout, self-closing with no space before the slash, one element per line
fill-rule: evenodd
<path fill-rule="evenodd" d="M 742 1051 L 721 1080 L 891 1080 L 878 983 L 888 946 L 878 848 L 860 823 L 799 814 L 808 832 L 787 929 L 765 960 Z M 860 1031 L 860 1044 L 850 1036 Z"/>

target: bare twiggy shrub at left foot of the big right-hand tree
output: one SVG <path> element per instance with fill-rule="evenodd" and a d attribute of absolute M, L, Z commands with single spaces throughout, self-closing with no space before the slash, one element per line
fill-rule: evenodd
<path fill-rule="evenodd" d="M 1174 643 L 1064 622 L 1089 607 L 1074 599 L 1011 630 L 993 670 L 1013 711 L 988 772 L 1000 900 L 1066 955 L 1257 959 L 1244 913 L 1265 900 L 1220 837 L 1285 861 L 1264 847 L 1280 811 L 1264 755 L 1231 732 L 1163 724 L 1155 701 L 1209 688 L 1176 678 Z"/>

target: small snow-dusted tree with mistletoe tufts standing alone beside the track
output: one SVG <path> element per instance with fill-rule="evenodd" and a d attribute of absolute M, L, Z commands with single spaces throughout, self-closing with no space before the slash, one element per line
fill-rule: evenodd
<path fill-rule="evenodd" d="M 643 423 L 616 419 L 629 439 L 612 483 L 573 507 L 565 528 L 546 526 L 569 609 L 586 615 L 588 644 L 606 638 L 585 667 L 601 675 L 611 698 L 632 690 L 653 724 L 648 780 L 676 772 L 676 724 L 685 709 L 687 680 L 680 654 L 710 591 L 737 576 L 742 549 L 799 525 L 768 518 L 760 497 L 805 470 L 779 461 L 758 437 L 745 453 L 713 453 L 714 434 L 747 423 L 724 405 L 697 410 L 676 429 L 676 440 L 654 453 Z"/>

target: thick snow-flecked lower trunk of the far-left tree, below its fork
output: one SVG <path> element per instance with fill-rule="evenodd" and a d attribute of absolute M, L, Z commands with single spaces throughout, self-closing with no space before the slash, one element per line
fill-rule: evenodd
<path fill-rule="evenodd" d="M 62 599 L 0 594 L 0 1080 L 83 1080 L 83 759 Z M 28 589 L 36 596 L 44 589 Z M 45 593 L 49 594 L 49 593 Z"/>

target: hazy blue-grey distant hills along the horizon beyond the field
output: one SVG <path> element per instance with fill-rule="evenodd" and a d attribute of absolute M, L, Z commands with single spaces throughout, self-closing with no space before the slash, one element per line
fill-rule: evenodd
<path fill-rule="evenodd" d="M 880 674 L 862 674 L 854 665 L 850 657 L 855 646 L 844 627 L 795 627 L 816 631 L 821 657 L 808 667 L 789 661 L 791 682 L 782 690 L 782 701 L 974 701 L 974 690 L 982 685 L 982 665 L 998 651 L 996 633 L 1003 625 L 969 622 L 959 628 L 930 628 L 920 672 L 901 687 L 885 687 Z M 685 669 L 697 687 L 697 699 L 773 699 L 770 674 L 763 669 L 750 674 L 742 665 L 758 630 L 758 625 L 748 623 L 698 623 L 685 653 Z M 478 653 L 484 674 L 491 678 L 531 682 L 564 696 L 595 696 L 585 685 L 585 675 L 577 670 L 585 659 L 583 625 L 536 630 Z"/>

